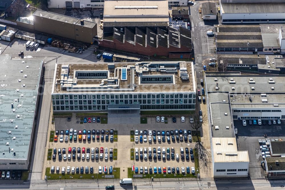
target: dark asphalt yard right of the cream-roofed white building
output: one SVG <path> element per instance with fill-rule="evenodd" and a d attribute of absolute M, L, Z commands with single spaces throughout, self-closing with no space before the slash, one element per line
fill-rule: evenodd
<path fill-rule="evenodd" d="M 285 140 L 285 126 L 284 121 L 281 120 L 281 124 L 268 125 L 249 125 L 249 120 L 246 120 L 247 126 L 243 126 L 242 120 L 235 120 L 234 126 L 237 128 L 237 145 L 239 150 L 248 150 L 249 154 L 249 175 L 251 179 L 264 178 L 264 170 L 261 167 L 262 151 L 258 143 L 259 139 L 283 139 Z M 272 122 L 272 120 L 271 120 Z M 264 137 L 264 134 L 267 137 Z"/>

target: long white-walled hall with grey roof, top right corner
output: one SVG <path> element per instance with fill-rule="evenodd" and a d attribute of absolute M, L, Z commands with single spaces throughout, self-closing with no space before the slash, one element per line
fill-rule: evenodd
<path fill-rule="evenodd" d="M 220 0 L 220 14 L 226 23 L 285 23 L 284 0 Z"/>

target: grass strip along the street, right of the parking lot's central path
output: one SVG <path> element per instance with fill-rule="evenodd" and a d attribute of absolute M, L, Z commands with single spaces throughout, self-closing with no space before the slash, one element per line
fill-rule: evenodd
<path fill-rule="evenodd" d="M 152 170 L 153 170 L 153 167 L 152 167 Z M 162 168 L 161 168 L 162 170 Z M 190 171 L 191 172 L 191 171 Z M 136 174 L 134 171 L 132 171 L 132 168 L 131 167 L 128 167 L 128 178 L 133 178 L 133 174 Z M 140 174 L 140 173 L 137 173 L 137 174 Z M 150 179 L 151 177 L 153 178 L 183 178 L 183 177 L 193 177 L 193 178 L 196 178 L 196 175 L 193 175 L 192 173 L 190 174 L 174 174 L 174 173 L 171 173 L 171 174 L 168 174 L 168 173 L 160 173 L 160 174 L 143 174 L 143 177 L 142 178 L 148 178 Z M 140 179 L 140 177 L 138 177 L 137 179 Z"/>

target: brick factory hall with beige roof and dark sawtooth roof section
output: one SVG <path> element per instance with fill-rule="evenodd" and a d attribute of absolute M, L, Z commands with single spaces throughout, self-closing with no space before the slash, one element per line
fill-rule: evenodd
<path fill-rule="evenodd" d="M 148 56 L 192 57 L 191 31 L 170 27 L 168 1 L 105 1 L 101 47 Z M 187 12 L 187 11 L 186 11 Z"/>

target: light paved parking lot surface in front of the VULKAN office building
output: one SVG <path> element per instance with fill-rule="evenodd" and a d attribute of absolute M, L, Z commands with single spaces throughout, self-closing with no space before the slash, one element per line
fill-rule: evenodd
<path fill-rule="evenodd" d="M 79 119 L 79 118 L 78 118 Z M 60 131 L 63 130 L 64 132 L 64 136 L 65 136 L 65 131 L 68 129 L 70 130 L 71 128 L 73 130 L 77 130 L 77 133 L 79 132 L 79 130 L 82 131 L 83 134 L 83 130 L 86 130 L 86 134 L 88 134 L 88 130 L 90 130 L 90 134 L 91 134 L 91 140 L 87 140 L 86 141 L 79 141 L 78 139 L 76 141 L 74 141 L 74 137 L 72 138 L 72 140 L 70 141 L 68 138 L 68 141 L 64 141 L 60 142 L 60 138 L 58 138 L 58 142 L 48 142 L 48 149 L 50 151 L 52 151 L 50 153 L 50 155 L 53 154 L 53 149 L 55 149 L 56 152 L 56 158 L 55 159 L 50 159 L 47 160 L 47 164 L 46 167 L 52 167 L 54 166 L 56 167 L 60 167 L 60 169 L 62 167 L 88 167 L 90 169 L 90 167 L 94 168 L 94 173 L 98 173 L 99 172 L 99 166 L 104 167 L 106 166 L 107 168 L 109 166 L 113 166 L 116 168 L 121 168 L 121 178 L 123 177 L 127 177 L 127 168 L 131 167 L 132 165 L 135 165 L 135 167 L 185 167 L 185 170 L 187 167 L 194 167 L 194 160 L 191 160 L 191 153 L 190 153 L 190 148 L 194 148 L 195 147 L 195 143 L 193 143 L 192 141 L 189 141 L 189 136 L 188 136 L 188 130 L 186 131 L 186 139 L 184 139 L 184 130 L 189 129 L 189 122 L 190 119 L 189 118 L 185 118 L 185 122 L 181 122 L 181 118 L 177 118 L 176 122 L 173 123 L 172 121 L 172 117 L 169 117 L 168 119 L 168 124 L 166 124 L 165 122 L 157 122 L 156 118 L 148 118 L 148 124 L 137 124 L 136 126 L 132 125 L 132 124 L 101 124 L 101 123 L 97 123 L 97 122 L 91 122 L 91 123 L 83 123 L 80 124 L 80 122 L 77 122 L 78 119 L 76 119 L 75 117 L 73 117 L 71 119 L 71 121 L 67 121 L 67 118 L 54 118 L 54 129 L 53 130 L 58 130 L 59 132 L 59 136 L 60 136 Z M 102 118 L 101 118 L 102 119 Z M 150 129 L 151 128 L 151 129 Z M 115 135 L 114 135 L 114 141 L 110 141 L 110 139 L 106 142 L 106 130 L 111 130 L 113 129 L 114 132 L 117 131 L 117 142 L 115 141 Z M 156 130 L 156 138 L 157 141 L 153 142 L 153 137 L 154 135 L 151 134 L 151 138 L 152 138 L 152 142 L 132 142 L 131 138 L 130 138 L 130 132 L 131 130 L 135 131 L 135 130 Z M 95 140 L 92 140 L 92 136 L 93 136 L 93 130 L 95 130 L 94 132 L 95 134 Z M 100 135 L 99 135 L 99 139 L 97 139 L 97 130 L 100 130 Z M 101 131 L 105 130 L 105 134 L 103 137 L 103 140 L 101 140 L 101 136 L 102 133 Z M 177 130 L 177 131 L 175 131 Z M 180 131 L 179 131 L 180 130 Z M 164 131 L 164 135 L 160 134 L 160 141 L 158 141 L 158 131 Z M 172 132 L 173 131 L 173 132 Z M 169 132 L 169 137 L 168 137 L 168 133 Z M 176 139 L 176 135 L 175 132 L 178 133 L 178 137 L 179 139 Z M 175 137 L 175 140 L 172 140 L 172 134 Z M 182 139 L 180 139 L 180 133 L 182 133 Z M 190 132 L 191 133 L 191 132 Z M 189 133 L 189 134 L 190 134 Z M 148 134 L 149 135 L 149 134 Z M 78 136 L 78 135 L 77 135 Z M 109 134 L 110 136 L 110 134 Z M 164 139 L 165 138 L 165 142 Z M 167 142 L 167 139 L 169 138 L 170 142 Z M 168 140 L 168 141 L 169 141 Z M 186 141 L 185 141 L 186 140 Z M 70 155 L 68 156 L 68 149 L 69 147 L 71 149 L 73 149 L 73 147 L 76 148 L 76 151 L 74 152 L 74 156 L 73 153 L 71 152 Z M 82 153 L 82 149 L 83 147 L 85 148 L 85 153 Z M 89 153 L 89 159 L 86 159 L 87 156 L 87 148 L 90 149 L 90 151 L 92 150 L 92 148 L 94 148 L 96 150 L 96 147 L 99 149 L 98 155 L 100 156 L 100 148 L 103 148 L 103 157 L 96 159 L 96 152 L 94 153 L 94 159 L 91 158 L 91 152 Z M 131 159 L 132 153 L 131 151 L 135 151 L 136 148 L 140 149 L 140 148 L 148 148 L 151 147 L 152 150 L 152 158 L 151 159 L 139 159 L 136 160 L 135 157 L 133 157 L 133 159 Z M 154 159 L 154 152 L 153 152 L 153 148 L 156 148 L 156 151 L 158 150 L 158 147 L 160 147 L 160 158 L 158 158 L 158 152 L 156 153 L 156 157 L 157 159 Z M 171 157 L 171 150 L 174 150 L 174 158 L 173 155 Z M 180 152 L 180 147 L 183 148 L 184 153 L 184 159 L 181 158 L 181 152 Z M 58 159 L 58 148 L 60 148 L 61 154 L 62 154 L 62 159 L 59 160 Z M 62 149 L 65 148 L 66 150 L 66 159 L 64 159 L 63 157 L 63 153 L 62 153 Z M 80 148 L 80 156 L 77 157 L 78 155 L 78 151 L 77 149 Z M 105 159 L 105 148 L 107 148 L 107 152 L 108 152 L 108 157 L 107 159 Z M 110 148 L 117 151 L 117 155 L 116 158 L 115 153 L 113 154 L 113 159 L 110 159 L 110 153 L 109 150 Z M 166 153 L 162 154 L 162 150 L 164 150 Z M 169 148 L 169 150 L 167 150 L 167 148 Z M 186 149 L 187 149 L 187 153 L 186 153 Z M 89 151 L 88 149 L 88 151 Z M 173 151 L 172 150 L 172 151 Z M 169 155 L 167 154 L 167 151 L 169 151 Z M 189 151 L 189 153 L 188 153 Z M 191 149 L 192 151 L 192 149 Z M 82 154 L 84 155 L 84 159 L 82 159 Z M 176 159 L 176 154 L 178 154 L 178 159 Z M 135 155 L 135 154 L 134 154 Z M 165 159 L 164 159 L 164 156 Z M 187 157 L 186 157 L 187 155 Z M 68 159 L 68 157 L 70 159 Z M 80 159 L 78 159 L 80 158 Z M 188 159 L 189 158 L 189 159 Z M 123 172 L 125 170 L 125 173 Z M 61 170 L 60 170 L 61 171 Z M 188 170 L 189 171 L 189 170 Z M 180 171 L 181 172 L 181 171 Z"/>

